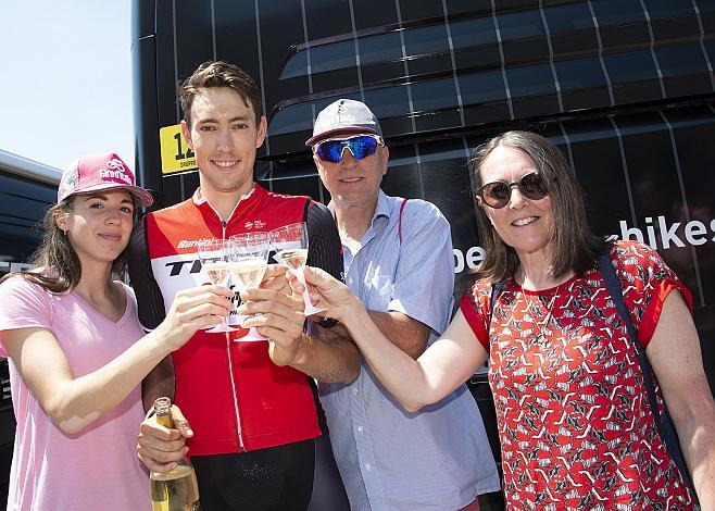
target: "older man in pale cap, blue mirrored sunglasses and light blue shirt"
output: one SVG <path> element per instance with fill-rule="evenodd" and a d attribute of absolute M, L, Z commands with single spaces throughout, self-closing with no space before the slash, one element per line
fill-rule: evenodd
<path fill-rule="evenodd" d="M 389 150 L 365 104 L 340 99 L 326 107 L 306 145 L 333 198 L 346 283 L 382 333 L 417 358 L 450 319 L 449 223 L 429 202 L 380 190 Z M 331 329 L 348 335 L 340 325 Z M 322 361 L 306 362 L 300 342 L 292 349 L 284 362 L 317 374 Z M 364 362 L 352 383 L 318 387 L 353 510 L 474 510 L 479 494 L 499 489 L 481 416 L 465 386 L 418 413 L 405 412 Z"/>

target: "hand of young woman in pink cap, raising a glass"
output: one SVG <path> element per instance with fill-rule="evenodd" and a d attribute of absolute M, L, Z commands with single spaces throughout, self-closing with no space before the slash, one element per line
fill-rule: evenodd
<path fill-rule="evenodd" d="M 225 286 L 198 286 L 183 289 L 174 297 L 172 308 L 156 327 L 172 351 L 184 346 L 198 329 L 221 323 L 234 309 L 234 291 Z"/>

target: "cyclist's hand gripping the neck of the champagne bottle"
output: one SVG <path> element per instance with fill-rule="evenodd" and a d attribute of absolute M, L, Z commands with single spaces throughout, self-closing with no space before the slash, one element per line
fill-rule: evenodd
<path fill-rule="evenodd" d="M 172 404 L 174 428 L 168 429 L 156 422 L 156 416 L 145 420 L 139 427 L 137 453 L 151 472 L 168 472 L 176 469 L 177 461 L 186 456 L 186 438 L 193 432 L 178 407 Z"/>

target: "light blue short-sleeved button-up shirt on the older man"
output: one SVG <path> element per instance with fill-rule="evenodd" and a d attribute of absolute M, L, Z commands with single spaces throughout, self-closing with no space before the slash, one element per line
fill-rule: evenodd
<path fill-rule="evenodd" d="M 343 246 L 346 283 L 368 309 L 402 312 L 432 328 L 450 320 L 450 225 L 434 204 L 381 190 L 360 249 Z M 405 412 L 364 363 L 350 385 L 319 384 L 330 440 L 353 511 L 456 510 L 499 489 L 481 415 L 466 386 Z"/>

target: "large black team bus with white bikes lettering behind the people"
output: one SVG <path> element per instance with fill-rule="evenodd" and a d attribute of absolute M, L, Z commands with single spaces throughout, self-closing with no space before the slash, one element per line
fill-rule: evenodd
<path fill-rule="evenodd" d="M 715 1 L 135 0 L 131 53 L 137 170 L 156 207 L 199 183 L 176 98 L 201 62 L 259 83 L 255 177 L 279 192 L 327 203 L 303 142 L 319 110 L 358 99 L 390 147 L 385 191 L 450 221 L 457 298 L 484 257 L 469 152 L 506 129 L 549 137 L 594 232 L 649 244 L 692 291 L 715 389 Z M 472 389 L 493 429 L 485 382 Z"/>

